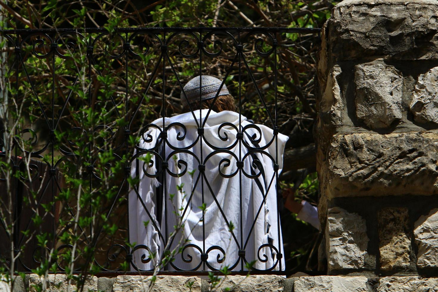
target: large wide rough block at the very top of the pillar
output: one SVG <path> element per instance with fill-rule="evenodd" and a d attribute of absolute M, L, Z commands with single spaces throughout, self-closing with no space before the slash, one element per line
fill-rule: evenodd
<path fill-rule="evenodd" d="M 438 59 L 437 13 L 435 0 L 343 1 L 328 24 L 332 58 Z"/>

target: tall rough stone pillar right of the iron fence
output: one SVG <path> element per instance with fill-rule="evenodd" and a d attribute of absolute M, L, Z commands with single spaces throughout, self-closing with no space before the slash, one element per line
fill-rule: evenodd
<path fill-rule="evenodd" d="M 320 269 L 377 291 L 438 291 L 437 30 L 436 0 L 345 0 L 321 33 Z"/>

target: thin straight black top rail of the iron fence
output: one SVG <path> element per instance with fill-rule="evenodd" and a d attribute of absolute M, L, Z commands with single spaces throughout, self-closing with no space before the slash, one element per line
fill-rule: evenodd
<path fill-rule="evenodd" d="M 279 28 L 279 27 L 153 27 L 153 28 L 114 28 L 114 32 L 204 32 L 204 31 L 263 31 L 263 32 L 290 32 L 290 33 L 319 33 L 321 28 Z M 0 34 L 26 33 L 56 33 L 56 32 L 108 32 L 106 28 L 28 28 L 28 29 L 0 29 Z"/>

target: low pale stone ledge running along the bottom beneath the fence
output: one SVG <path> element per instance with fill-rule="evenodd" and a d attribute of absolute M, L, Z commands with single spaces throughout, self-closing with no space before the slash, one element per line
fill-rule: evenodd
<path fill-rule="evenodd" d="M 25 292 L 27 288 L 32 290 L 32 285 L 41 284 L 42 279 L 36 274 L 30 274 L 29 287 L 18 285 L 14 292 Z M 151 276 L 118 276 L 117 278 L 91 277 L 86 282 L 84 291 L 149 291 L 144 290 Z M 47 291 L 67 291 L 67 279 L 64 274 L 49 275 L 47 278 L 49 288 Z M 191 289 L 187 283 L 192 281 Z M 201 289 L 202 283 L 202 289 Z M 376 284 L 377 283 L 377 284 Z M 76 286 L 70 286 L 70 291 L 75 291 Z M 227 289 L 230 288 L 230 289 Z M 9 292 L 8 285 L 0 281 L 0 292 Z M 157 276 L 157 281 L 152 287 L 155 292 L 173 291 L 212 291 L 208 280 L 199 277 L 185 276 Z M 283 278 L 277 275 L 251 275 L 227 276 L 225 281 L 216 286 L 214 291 L 233 292 L 417 292 L 438 291 L 438 278 L 421 278 L 417 276 L 371 278 L 363 276 L 305 276 L 299 278 Z"/>

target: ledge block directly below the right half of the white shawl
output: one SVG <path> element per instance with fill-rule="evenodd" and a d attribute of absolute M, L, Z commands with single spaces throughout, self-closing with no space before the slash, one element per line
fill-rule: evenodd
<path fill-rule="evenodd" d="M 284 280 L 283 277 L 277 275 L 227 276 L 216 285 L 215 291 L 283 291 Z M 209 285 L 209 289 L 212 289 L 212 284 Z"/>

